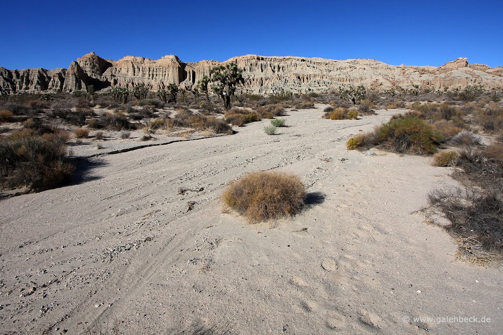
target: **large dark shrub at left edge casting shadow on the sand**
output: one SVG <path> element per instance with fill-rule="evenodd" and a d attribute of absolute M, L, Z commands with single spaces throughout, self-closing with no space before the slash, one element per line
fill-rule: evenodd
<path fill-rule="evenodd" d="M 40 134 L 26 129 L 0 139 L 2 187 L 41 190 L 69 180 L 73 166 L 66 161 L 68 135 L 61 130 L 52 131 Z"/>

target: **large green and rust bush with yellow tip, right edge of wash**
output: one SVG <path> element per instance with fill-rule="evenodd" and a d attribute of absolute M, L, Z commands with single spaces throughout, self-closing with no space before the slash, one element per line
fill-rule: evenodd
<path fill-rule="evenodd" d="M 348 143 L 352 148 L 381 145 L 395 152 L 423 155 L 437 152 L 436 145 L 442 140 L 442 135 L 436 133 L 428 122 L 418 118 L 417 113 L 406 113 L 393 116 L 387 124 L 364 134 L 363 139 L 350 139 Z"/>

